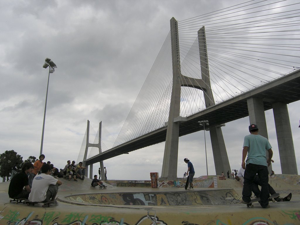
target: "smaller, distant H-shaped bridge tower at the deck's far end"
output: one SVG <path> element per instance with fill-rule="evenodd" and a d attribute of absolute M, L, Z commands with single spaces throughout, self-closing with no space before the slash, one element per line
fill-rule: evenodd
<path fill-rule="evenodd" d="M 87 158 L 87 155 L 88 155 L 88 147 L 98 148 L 99 149 L 99 154 L 102 152 L 102 149 L 101 149 L 101 133 L 102 133 L 102 121 L 99 123 L 98 143 L 97 144 L 91 144 L 91 143 L 89 143 L 90 122 L 88 120 L 88 122 L 87 122 L 87 128 L 86 128 L 86 144 L 85 144 L 85 151 L 84 151 L 82 165 L 84 167 L 88 167 L 89 166 L 89 171 L 90 171 L 89 178 L 90 179 L 94 179 L 94 176 L 93 176 L 93 164 L 86 164 L 86 158 Z M 103 161 L 100 161 L 100 169 L 101 169 L 101 179 L 103 179 L 104 178 Z M 85 171 L 85 176 L 87 176 L 87 173 L 88 173 L 88 170 Z"/>

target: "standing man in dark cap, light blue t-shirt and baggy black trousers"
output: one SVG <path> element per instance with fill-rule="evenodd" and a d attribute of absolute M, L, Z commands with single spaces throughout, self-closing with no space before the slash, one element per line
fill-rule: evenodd
<path fill-rule="evenodd" d="M 261 182 L 260 205 L 262 208 L 269 208 L 268 166 L 271 165 L 271 159 L 273 156 L 272 146 L 268 139 L 258 134 L 257 125 L 251 124 L 249 126 L 249 132 L 250 135 L 244 137 L 242 153 L 241 166 L 245 169 L 242 202 L 248 203 L 251 201 L 251 186 L 254 176 L 257 173 Z M 268 158 L 266 157 L 266 151 L 269 153 Z M 246 156 L 247 160 L 245 163 Z"/>

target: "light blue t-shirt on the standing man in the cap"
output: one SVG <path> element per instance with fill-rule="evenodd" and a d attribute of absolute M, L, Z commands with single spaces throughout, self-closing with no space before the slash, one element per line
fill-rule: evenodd
<path fill-rule="evenodd" d="M 244 147 L 249 147 L 246 164 L 268 166 L 266 151 L 272 148 L 268 139 L 259 134 L 250 134 L 244 137 Z"/>

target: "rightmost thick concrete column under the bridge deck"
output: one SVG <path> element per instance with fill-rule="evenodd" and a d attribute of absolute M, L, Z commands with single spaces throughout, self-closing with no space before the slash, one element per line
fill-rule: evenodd
<path fill-rule="evenodd" d="M 282 174 L 298 174 L 289 112 L 285 103 L 273 104 L 273 114 Z"/>

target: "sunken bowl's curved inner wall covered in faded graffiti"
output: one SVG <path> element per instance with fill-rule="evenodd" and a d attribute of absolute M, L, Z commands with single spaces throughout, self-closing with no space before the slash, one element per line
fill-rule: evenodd
<path fill-rule="evenodd" d="M 240 204 L 232 189 L 184 190 L 168 192 L 90 193 L 66 196 L 61 201 L 92 205 L 232 205 Z"/>

